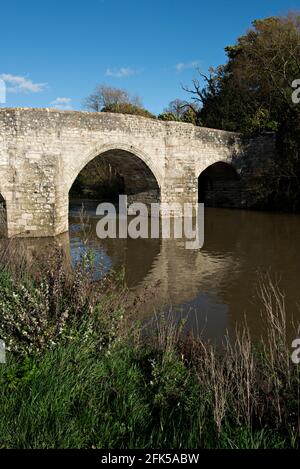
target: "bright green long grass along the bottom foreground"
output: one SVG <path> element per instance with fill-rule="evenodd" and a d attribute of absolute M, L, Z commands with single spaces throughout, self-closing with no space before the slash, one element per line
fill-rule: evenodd
<path fill-rule="evenodd" d="M 179 354 L 73 341 L 0 367 L 0 448 L 268 448 L 295 429 L 251 428 L 234 403 L 221 430 L 213 395 Z M 269 396 L 270 397 L 270 396 Z M 269 398 L 268 397 L 268 398 Z M 297 410 L 297 403 L 292 411 Z"/>

